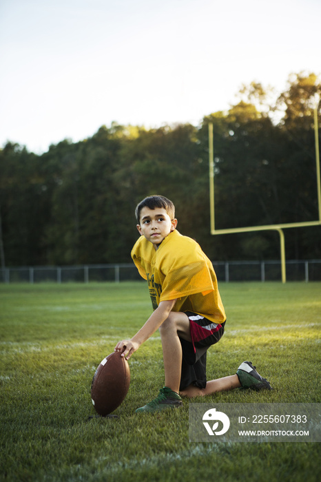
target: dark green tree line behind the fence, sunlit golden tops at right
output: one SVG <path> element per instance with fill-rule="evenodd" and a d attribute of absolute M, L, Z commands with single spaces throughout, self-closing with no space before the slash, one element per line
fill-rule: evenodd
<path fill-rule="evenodd" d="M 320 79 L 292 74 L 273 103 L 271 91 L 243 86 L 228 112 L 197 127 L 112 123 L 41 155 L 8 141 L 0 149 L 2 266 L 129 262 L 138 237 L 134 208 L 152 193 L 174 201 L 178 230 L 211 260 L 278 259 L 273 231 L 209 233 L 209 123 L 216 229 L 318 220 L 313 102 Z M 288 259 L 321 258 L 321 227 L 287 229 L 285 240 Z"/>

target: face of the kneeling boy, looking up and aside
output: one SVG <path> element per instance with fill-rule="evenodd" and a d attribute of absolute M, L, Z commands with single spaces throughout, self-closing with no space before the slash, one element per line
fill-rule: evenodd
<path fill-rule="evenodd" d="M 159 207 L 149 209 L 145 206 L 141 210 L 141 223 L 137 224 L 137 229 L 157 249 L 158 244 L 161 244 L 166 236 L 176 229 L 176 226 L 177 219 L 169 218 L 166 209 Z"/>

